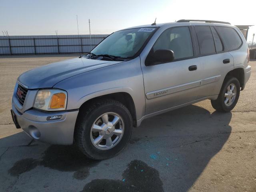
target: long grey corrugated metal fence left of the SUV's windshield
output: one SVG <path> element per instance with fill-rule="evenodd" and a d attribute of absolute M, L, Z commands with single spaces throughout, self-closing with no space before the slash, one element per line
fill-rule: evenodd
<path fill-rule="evenodd" d="M 0 55 L 66 54 L 90 52 L 108 36 L 103 35 L 49 35 L 0 37 Z"/>

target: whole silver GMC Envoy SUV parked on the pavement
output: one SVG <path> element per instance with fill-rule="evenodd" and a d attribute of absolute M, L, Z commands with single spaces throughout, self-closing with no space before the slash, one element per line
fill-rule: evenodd
<path fill-rule="evenodd" d="M 12 98 L 17 128 L 89 158 L 122 151 L 142 120 L 210 99 L 229 112 L 250 77 L 240 30 L 179 20 L 112 33 L 86 56 L 21 74 Z"/>

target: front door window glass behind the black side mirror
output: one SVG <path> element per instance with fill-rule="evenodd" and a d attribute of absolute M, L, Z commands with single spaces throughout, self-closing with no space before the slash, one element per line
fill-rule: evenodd
<path fill-rule="evenodd" d="M 174 52 L 174 60 L 194 56 L 188 27 L 174 27 L 165 30 L 156 40 L 153 50 L 168 49 Z"/>

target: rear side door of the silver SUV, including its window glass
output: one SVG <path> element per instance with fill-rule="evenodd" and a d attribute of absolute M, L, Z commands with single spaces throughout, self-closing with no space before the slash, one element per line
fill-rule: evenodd
<path fill-rule="evenodd" d="M 214 26 L 196 25 L 194 29 L 200 52 L 198 63 L 202 70 L 198 98 L 217 95 L 226 74 L 234 69 L 233 57 L 224 52 L 224 44 Z"/>

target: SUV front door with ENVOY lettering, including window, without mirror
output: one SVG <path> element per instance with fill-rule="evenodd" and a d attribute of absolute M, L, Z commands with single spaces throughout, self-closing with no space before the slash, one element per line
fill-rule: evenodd
<path fill-rule="evenodd" d="M 146 114 L 194 101 L 200 91 L 202 71 L 198 58 L 194 58 L 190 28 L 182 26 L 166 29 L 150 53 L 159 49 L 172 50 L 174 61 L 150 66 L 141 63 Z"/>

